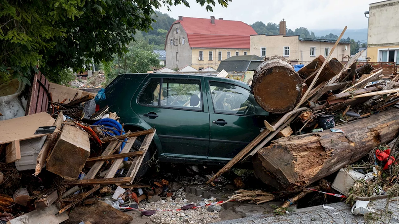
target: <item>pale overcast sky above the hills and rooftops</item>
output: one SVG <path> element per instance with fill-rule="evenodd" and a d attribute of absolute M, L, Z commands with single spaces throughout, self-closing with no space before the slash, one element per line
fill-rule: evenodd
<path fill-rule="evenodd" d="M 186 6 L 172 6 L 160 9 L 173 18 L 179 16 L 197 18 L 224 18 L 225 20 L 240 20 L 247 24 L 262 21 L 267 24 L 279 24 L 284 18 L 288 29 L 294 30 L 306 27 L 316 29 L 348 29 L 367 28 L 367 18 L 364 12 L 369 10 L 369 4 L 379 0 L 233 0 L 227 8 L 217 5 L 213 12 L 207 12 L 195 0 L 188 0 Z M 217 0 L 215 0 L 217 2 Z"/>

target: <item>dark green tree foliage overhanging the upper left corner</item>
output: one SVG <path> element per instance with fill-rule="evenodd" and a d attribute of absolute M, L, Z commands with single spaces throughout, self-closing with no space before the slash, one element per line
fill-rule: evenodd
<path fill-rule="evenodd" d="M 196 2 L 212 11 L 231 0 Z M 28 82 L 39 64 L 47 78 L 60 80 L 64 69 L 112 61 L 128 52 L 134 34 L 153 29 L 154 10 L 177 4 L 189 6 L 186 0 L 0 0 L 0 79 Z"/>

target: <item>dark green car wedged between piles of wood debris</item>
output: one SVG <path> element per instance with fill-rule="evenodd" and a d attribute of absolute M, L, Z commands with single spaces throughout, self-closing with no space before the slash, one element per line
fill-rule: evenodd
<path fill-rule="evenodd" d="M 161 162 L 223 165 L 253 140 L 269 115 L 249 85 L 207 75 L 122 74 L 105 88 L 124 130 L 156 129 Z"/>

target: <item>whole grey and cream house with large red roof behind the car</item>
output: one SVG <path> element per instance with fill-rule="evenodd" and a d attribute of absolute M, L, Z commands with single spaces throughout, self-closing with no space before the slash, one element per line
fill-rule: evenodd
<path fill-rule="evenodd" d="M 250 35 L 255 30 L 241 21 L 179 16 L 166 35 L 166 65 L 181 69 L 186 65 L 201 70 L 217 69 L 234 55 L 249 55 Z"/>

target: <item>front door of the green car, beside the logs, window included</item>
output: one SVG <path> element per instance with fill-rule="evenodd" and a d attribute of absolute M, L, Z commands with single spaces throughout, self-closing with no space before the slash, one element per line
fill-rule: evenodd
<path fill-rule="evenodd" d="M 208 94 L 209 163 L 230 161 L 265 128 L 268 112 L 256 102 L 245 83 L 205 77 Z"/>

